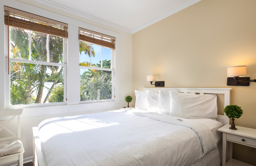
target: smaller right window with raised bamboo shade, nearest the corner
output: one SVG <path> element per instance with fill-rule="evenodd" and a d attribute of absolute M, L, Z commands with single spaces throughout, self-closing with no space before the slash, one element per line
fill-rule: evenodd
<path fill-rule="evenodd" d="M 113 101 L 115 38 L 79 28 L 80 101 Z"/>

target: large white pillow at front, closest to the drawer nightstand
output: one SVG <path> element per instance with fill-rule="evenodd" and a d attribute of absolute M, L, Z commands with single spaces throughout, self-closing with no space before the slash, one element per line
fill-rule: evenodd
<path fill-rule="evenodd" d="M 184 94 L 170 92 L 170 115 L 183 118 L 216 118 L 216 94 Z"/>

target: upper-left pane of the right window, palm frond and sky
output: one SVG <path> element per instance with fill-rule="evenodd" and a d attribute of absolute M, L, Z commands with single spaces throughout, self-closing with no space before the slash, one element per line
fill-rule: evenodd
<path fill-rule="evenodd" d="M 89 43 L 79 41 L 79 65 L 81 66 L 90 66 L 90 49 L 91 46 Z M 92 48 L 92 56 L 95 56 L 94 49 Z"/>

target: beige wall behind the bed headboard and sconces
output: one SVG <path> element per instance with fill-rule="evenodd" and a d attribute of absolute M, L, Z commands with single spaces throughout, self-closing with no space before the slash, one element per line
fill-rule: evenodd
<path fill-rule="evenodd" d="M 255 0 L 202 0 L 133 34 L 133 97 L 153 87 L 146 82 L 151 74 L 165 87 L 231 87 L 231 104 L 244 110 L 235 124 L 256 129 L 256 83 L 226 85 L 229 66 L 247 65 L 247 76 L 256 79 L 255 6 Z M 256 165 L 256 149 L 234 145 L 233 154 Z"/>

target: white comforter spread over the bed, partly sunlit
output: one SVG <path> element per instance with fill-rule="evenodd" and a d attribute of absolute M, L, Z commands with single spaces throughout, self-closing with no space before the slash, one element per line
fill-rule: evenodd
<path fill-rule="evenodd" d="M 38 125 L 47 166 L 182 166 L 216 148 L 212 132 L 190 119 L 110 111 L 50 118 Z"/>

